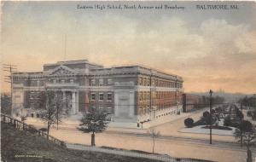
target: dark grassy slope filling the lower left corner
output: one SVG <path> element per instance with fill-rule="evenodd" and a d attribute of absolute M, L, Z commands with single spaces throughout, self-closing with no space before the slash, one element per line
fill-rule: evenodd
<path fill-rule="evenodd" d="M 26 162 L 80 162 L 80 161 L 111 161 L 111 162 L 154 162 L 153 159 L 131 158 L 108 153 L 96 153 L 61 148 L 47 139 L 33 135 L 24 130 L 15 130 L 9 124 L 1 123 L 1 156 L 2 161 Z"/>

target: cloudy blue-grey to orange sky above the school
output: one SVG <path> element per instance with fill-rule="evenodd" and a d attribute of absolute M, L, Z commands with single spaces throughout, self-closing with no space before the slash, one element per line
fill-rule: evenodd
<path fill-rule="evenodd" d="M 184 9 L 78 9 L 96 4 Z M 238 9 L 196 9 L 204 4 Z M 256 93 L 256 3 L 1 3 L 1 63 L 38 72 L 46 63 L 82 59 L 171 72 L 183 77 L 185 92 Z"/>

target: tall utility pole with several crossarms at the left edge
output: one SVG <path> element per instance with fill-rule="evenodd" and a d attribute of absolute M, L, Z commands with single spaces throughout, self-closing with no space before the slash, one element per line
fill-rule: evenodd
<path fill-rule="evenodd" d="M 4 82 L 10 84 L 10 105 L 11 105 L 11 115 L 13 114 L 13 72 L 17 72 L 17 66 L 12 65 L 12 64 L 3 64 L 3 71 L 4 72 L 9 72 L 9 75 L 4 76 Z"/>

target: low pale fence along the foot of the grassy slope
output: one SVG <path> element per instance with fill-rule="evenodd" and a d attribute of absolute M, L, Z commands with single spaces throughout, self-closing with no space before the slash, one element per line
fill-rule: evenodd
<path fill-rule="evenodd" d="M 207 160 L 201 159 L 183 159 L 183 158 L 172 158 L 167 154 L 157 154 L 157 153 L 145 153 L 143 151 L 138 150 L 124 150 L 118 148 L 98 148 L 98 147 L 90 147 L 87 145 L 81 144 L 73 144 L 67 143 L 67 148 L 71 149 L 79 149 L 84 151 L 92 151 L 92 152 L 100 152 L 100 153 L 110 153 L 110 154 L 117 154 L 120 156 L 128 156 L 134 158 L 143 158 L 143 159 L 156 159 L 159 161 L 166 161 L 166 162 L 203 162 Z"/>

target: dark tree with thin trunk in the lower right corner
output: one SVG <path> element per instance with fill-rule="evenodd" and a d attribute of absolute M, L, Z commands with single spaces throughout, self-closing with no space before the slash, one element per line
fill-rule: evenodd
<path fill-rule="evenodd" d="M 236 139 L 239 139 L 238 142 L 241 142 L 247 147 L 247 162 L 252 162 L 252 151 L 250 148 L 256 142 L 256 134 L 253 128 L 253 124 L 249 121 L 243 120 L 241 122 L 241 128 L 236 129 L 234 132 L 234 136 Z M 241 138 L 242 136 L 242 138 Z"/>

